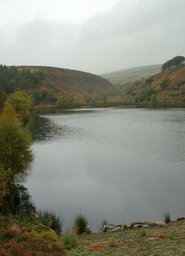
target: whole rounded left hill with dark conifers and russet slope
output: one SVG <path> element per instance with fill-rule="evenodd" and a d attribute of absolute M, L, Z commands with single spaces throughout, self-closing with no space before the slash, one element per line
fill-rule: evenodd
<path fill-rule="evenodd" d="M 56 67 L 0 65 L 0 94 L 8 95 L 20 90 L 32 95 L 36 105 L 55 104 L 61 96 L 61 106 L 88 104 L 120 93 L 103 77 L 87 72 Z"/>

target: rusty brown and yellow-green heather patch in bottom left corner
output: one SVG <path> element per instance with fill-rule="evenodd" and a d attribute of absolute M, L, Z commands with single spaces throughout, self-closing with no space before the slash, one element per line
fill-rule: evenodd
<path fill-rule="evenodd" d="M 0 255 L 2 256 L 61 256 L 66 255 L 54 232 L 33 229 L 31 218 L 0 216 Z"/>

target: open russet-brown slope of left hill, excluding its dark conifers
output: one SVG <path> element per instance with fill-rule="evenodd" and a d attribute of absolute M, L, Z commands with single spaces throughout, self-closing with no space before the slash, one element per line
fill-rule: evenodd
<path fill-rule="evenodd" d="M 56 67 L 31 67 L 22 66 L 34 72 L 40 70 L 44 74 L 41 88 L 53 89 L 56 93 L 63 92 L 66 95 L 73 93 L 82 100 L 88 98 L 102 99 L 103 95 L 114 96 L 119 90 L 104 79 L 91 73 Z"/>

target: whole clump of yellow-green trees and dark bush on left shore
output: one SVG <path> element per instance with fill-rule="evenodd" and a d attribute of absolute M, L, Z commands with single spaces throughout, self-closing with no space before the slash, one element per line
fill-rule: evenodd
<path fill-rule="evenodd" d="M 0 115 L 0 214 L 16 214 L 24 207 L 24 213 L 34 210 L 34 205 L 27 202 L 29 194 L 18 185 L 26 178 L 33 161 L 31 134 L 25 127 L 29 118 L 27 101 L 29 97 L 24 93 L 13 93 Z"/>

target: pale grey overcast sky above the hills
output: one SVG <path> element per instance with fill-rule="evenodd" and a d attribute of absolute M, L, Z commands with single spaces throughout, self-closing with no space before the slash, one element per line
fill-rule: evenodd
<path fill-rule="evenodd" d="M 185 55 L 185 0 L 0 0 L 0 63 L 103 74 Z"/>

